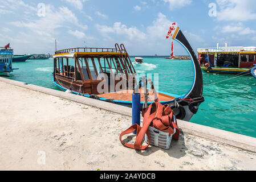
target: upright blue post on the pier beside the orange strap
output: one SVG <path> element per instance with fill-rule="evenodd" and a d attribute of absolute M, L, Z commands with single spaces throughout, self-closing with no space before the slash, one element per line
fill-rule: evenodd
<path fill-rule="evenodd" d="M 140 93 L 132 94 L 132 125 L 140 125 Z M 134 131 L 133 134 L 136 135 L 137 131 Z"/>

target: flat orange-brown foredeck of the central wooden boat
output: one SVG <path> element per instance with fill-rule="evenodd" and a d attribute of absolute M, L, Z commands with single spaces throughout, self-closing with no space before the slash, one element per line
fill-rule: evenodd
<path fill-rule="evenodd" d="M 132 101 L 132 93 L 133 90 L 121 90 L 118 92 L 110 92 L 110 93 L 104 93 L 104 94 L 97 94 L 97 96 L 112 100 L 121 100 L 121 101 Z M 144 90 L 140 89 L 141 93 L 141 102 L 145 101 L 144 98 Z M 159 96 L 159 101 L 172 101 L 175 97 L 168 96 L 166 94 L 157 93 Z M 149 97 L 150 99 L 148 101 L 154 101 L 153 93 L 151 90 L 149 90 Z"/>

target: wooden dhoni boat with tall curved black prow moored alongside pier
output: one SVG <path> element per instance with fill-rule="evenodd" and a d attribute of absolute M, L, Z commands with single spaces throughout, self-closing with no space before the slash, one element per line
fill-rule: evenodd
<path fill-rule="evenodd" d="M 197 113 L 198 106 L 204 101 L 202 97 L 203 82 L 200 64 L 197 57 L 177 27 L 172 39 L 180 43 L 188 51 L 194 65 L 194 81 L 192 88 L 183 96 L 176 96 L 165 92 L 157 92 L 161 104 L 170 104 L 178 119 L 189 121 Z M 72 93 L 102 101 L 112 102 L 124 106 L 132 106 L 132 93 L 137 85 L 136 71 L 123 44 L 115 44 L 115 48 L 70 48 L 56 51 L 54 57 L 53 82 L 63 90 L 72 90 Z M 72 64 L 71 64 L 72 63 Z M 99 77 L 104 73 L 105 77 Z M 120 89 L 115 89 L 120 80 L 113 81 L 111 88 L 110 78 L 132 77 L 121 79 L 124 81 Z M 101 84 L 101 85 L 100 85 Z M 104 85 L 105 84 L 105 85 Z M 107 92 L 100 93 L 99 88 L 107 85 Z M 110 86 L 109 86 L 110 85 Z M 132 85 L 132 86 L 131 86 Z M 144 93 L 144 89 L 140 89 Z M 152 92 L 148 93 L 149 96 Z M 148 101 L 148 104 L 154 99 Z M 144 94 L 141 94 L 141 106 L 144 104 Z"/>

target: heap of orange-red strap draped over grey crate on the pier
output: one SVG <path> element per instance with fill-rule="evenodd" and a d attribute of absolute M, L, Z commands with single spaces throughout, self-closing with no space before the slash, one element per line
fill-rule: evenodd
<path fill-rule="evenodd" d="M 123 131 L 120 134 L 120 142 L 124 144 L 124 146 L 133 148 L 136 150 L 145 150 L 150 143 L 150 135 L 148 131 L 148 127 L 152 126 L 157 130 L 164 131 L 166 133 L 169 133 L 169 135 L 174 134 L 174 129 L 176 129 L 176 133 L 173 135 L 173 138 L 178 140 L 180 136 L 180 129 L 178 129 L 177 124 L 174 122 L 174 113 L 173 110 L 170 109 L 169 105 L 161 105 L 159 102 L 155 102 L 151 104 L 149 107 L 143 109 L 143 127 L 135 124 L 129 127 L 127 130 Z M 134 144 L 130 143 L 124 143 L 121 139 L 123 135 L 132 133 L 133 131 L 137 130 L 136 133 L 136 140 Z M 147 146 L 142 146 L 142 140 L 147 134 L 147 137 L 149 139 L 149 143 Z"/>

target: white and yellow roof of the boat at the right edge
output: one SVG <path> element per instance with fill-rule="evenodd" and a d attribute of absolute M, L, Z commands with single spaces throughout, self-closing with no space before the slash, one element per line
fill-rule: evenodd
<path fill-rule="evenodd" d="M 213 47 L 213 48 L 198 48 L 197 53 L 256 53 L 256 47 Z"/>

